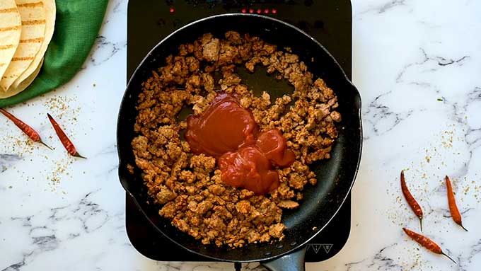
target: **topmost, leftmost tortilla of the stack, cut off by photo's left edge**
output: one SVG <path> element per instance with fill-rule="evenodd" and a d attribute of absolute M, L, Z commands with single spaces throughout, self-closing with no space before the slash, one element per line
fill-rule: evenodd
<path fill-rule="evenodd" d="M 18 47 L 22 20 L 15 0 L 0 1 L 0 79 Z"/>

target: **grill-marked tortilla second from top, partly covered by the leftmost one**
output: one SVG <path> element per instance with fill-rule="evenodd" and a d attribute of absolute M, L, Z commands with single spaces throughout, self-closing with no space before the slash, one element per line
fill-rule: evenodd
<path fill-rule="evenodd" d="M 1 0 L 4 1 L 4 0 Z M 11 59 L 0 88 L 8 90 L 11 84 L 25 71 L 35 59 L 42 46 L 45 34 L 45 8 L 41 0 L 16 0 L 22 18 L 20 42 Z"/>

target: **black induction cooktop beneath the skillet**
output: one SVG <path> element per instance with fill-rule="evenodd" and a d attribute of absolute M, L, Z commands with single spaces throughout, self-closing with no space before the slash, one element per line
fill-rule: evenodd
<path fill-rule="evenodd" d="M 222 13 L 258 13 L 296 25 L 323 44 L 351 79 L 352 9 L 349 0 L 130 0 L 127 11 L 127 80 L 151 48 L 174 30 L 197 19 Z M 148 258 L 211 261 L 180 248 L 156 231 L 129 195 L 126 197 L 126 226 L 132 246 Z M 338 253 L 349 237 L 350 226 L 349 195 L 330 224 L 308 243 L 306 262 L 327 260 Z"/>

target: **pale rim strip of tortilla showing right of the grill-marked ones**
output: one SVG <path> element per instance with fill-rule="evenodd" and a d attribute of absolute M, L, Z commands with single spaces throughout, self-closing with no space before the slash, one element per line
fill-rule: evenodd
<path fill-rule="evenodd" d="M 37 69 L 37 66 L 40 64 L 40 61 L 42 61 L 43 56 L 45 54 L 45 51 L 47 51 L 47 47 L 50 43 L 50 40 L 52 40 L 52 36 L 54 34 L 54 27 L 55 27 L 55 0 L 42 0 L 43 6 L 45 8 L 45 35 L 43 38 L 42 46 L 40 47 L 40 50 L 38 50 L 37 55 L 35 55 L 35 59 L 33 59 L 33 62 L 30 63 L 30 66 L 23 71 L 23 74 L 19 76 L 15 82 L 13 82 L 14 87 L 18 87 L 18 85 L 25 79 L 30 76 L 30 74 L 33 73 Z"/>

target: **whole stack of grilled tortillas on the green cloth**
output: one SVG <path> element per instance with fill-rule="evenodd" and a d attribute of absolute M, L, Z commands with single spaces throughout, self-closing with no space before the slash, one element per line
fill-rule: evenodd
<path fill-rule="evenodd" d="M 0 98 L 14 96 L 33 82 L 54 25 L 54 0 L 0 0 Z"/>

